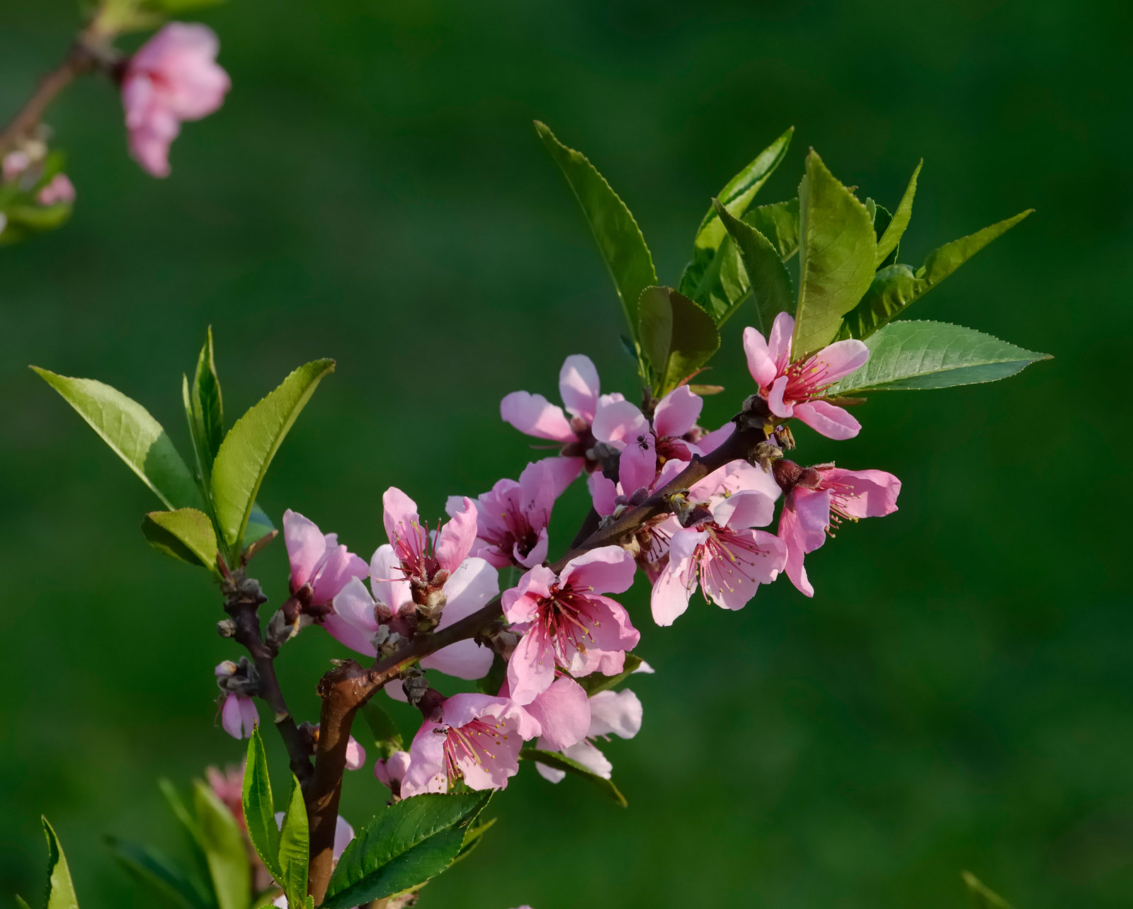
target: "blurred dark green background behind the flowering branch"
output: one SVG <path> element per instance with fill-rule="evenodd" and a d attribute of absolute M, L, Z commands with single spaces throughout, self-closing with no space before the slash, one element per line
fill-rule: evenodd
<path fill-rule="evenodd" d="M 1127 5 L 231 0 L 233 90 L 187 125 L 165 181 L 126 155 L 88 80 L 50 112 L 74 221 L 2 250 L 0 892 L 35 895 L 39 814 L 84 907 L 152 906 L 104 833 L 178 848 L 155 787 L 241 746 L 212 727 L 220 640 L 203 572 L 137 525 L 145 490 L 26 365 L 142 400 L 187 451 L 180 374 L 212 324 L 229 422 L 297 364 L 338 358 L 261 496 L 368 555 L 382 491 L 425 513 L 514 476 L 514 389 L 553 396 L 585 351 L 632 392 L 620 315 L 546 120 L 627 201 L 675 282 L 709 196 L 786 126 L 760 201 L 818 148 L 891 207 L 925 156 L 902 260 L 1038 214 L 917 305 L 1050 351 L 1008 381 L 878 394 L 866 431 L 800 430 L 800 459 L 904 481 L 901 511 L 849 527 L 743 612 L 647 618 L 641 734 L 608 748 L 629 798 L 528 771 L 500 823 L 421 907 L 957 907 L 971 869 L 1019 907 L 1133 902 L 1133 613 L 1124 389 L 1133 260 Z M 62 53 L 70 0 L 7 2 L 0 109 Z M 742 317 L 714 372 L 748 393 Z M 581 487 L 556 511 L 561 546 Z M 259 575 L 278 603 L 286 560 Z M 314 719 L 333 655 L 281 660 Z M 400 714 L 407 729 L 408 713 Z M 270 742 L 274 748 L 274 742 Z M 276 766 L 281 754 L 273 750 Z M 281 781 L 282 782 L 282 781 Z M 384 790 L 359 772 L 344 813 Z"/>

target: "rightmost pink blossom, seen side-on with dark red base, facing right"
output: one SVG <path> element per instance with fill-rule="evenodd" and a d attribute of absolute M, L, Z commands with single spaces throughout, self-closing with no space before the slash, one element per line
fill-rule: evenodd
<path fill-rule="evenodd" d="M 896 511 L 901 481 L 884 470 L 844 470 L 833 464 L 800 468 L 787 460 L 775 461 L 774 473 L 784 491 L 778 536 L 786 546 L 786 576 L 801 593 L 813 596 L 803 555 L 821 546 L 844 519 Z"/>

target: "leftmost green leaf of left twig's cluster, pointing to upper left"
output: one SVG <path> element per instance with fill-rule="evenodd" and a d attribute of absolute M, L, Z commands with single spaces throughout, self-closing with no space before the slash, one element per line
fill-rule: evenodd
<path fill-rule="evenodd" d="M 193 474 L 150 413 L 120 391 L 93 379 L 32 369 L 74 407 L 169 509 L 203 508 Z"/>

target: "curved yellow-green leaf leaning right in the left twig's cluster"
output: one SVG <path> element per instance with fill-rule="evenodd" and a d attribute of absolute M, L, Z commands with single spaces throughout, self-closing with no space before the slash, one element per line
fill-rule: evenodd
<path fill-rule="evenodd" d="M 218 527 L 233 552 L 240 547 L 259 484 L 280 443 L 320 380 L 333 371 L 332 359 L 300 366 L 224 436 L 213 462 L 212 494 Z"/>

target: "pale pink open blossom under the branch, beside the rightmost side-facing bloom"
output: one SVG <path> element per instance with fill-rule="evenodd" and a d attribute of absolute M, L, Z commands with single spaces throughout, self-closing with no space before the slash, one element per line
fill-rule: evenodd
<path fill-rule="evenodd" d="M 736 492 L 710 511 L 710 519 L 673 533 L 668 564 L 653 587 L 653 618 L 672 625 L 689 606 L 699 580 L 707 600 L 738 610 L 770 584 L 786 562 L 786 549 L 774 534 L 755 530 L 770 523 L 773 496 Z"/>

